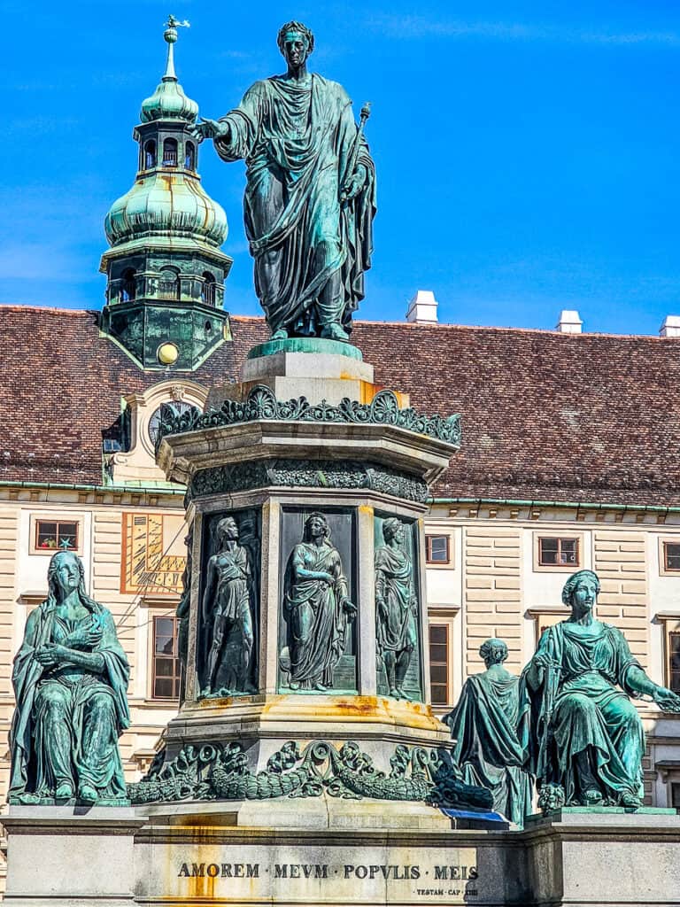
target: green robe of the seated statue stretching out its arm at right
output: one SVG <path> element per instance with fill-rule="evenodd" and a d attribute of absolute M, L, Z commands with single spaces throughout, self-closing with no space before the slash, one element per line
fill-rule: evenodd
<path fill-rule="evenodd" d="M 629 699 L 639 695 L 629 671 L 640 666 L 621 631 L 600 626 L 595 637 L 580 635 L 569 621 L 546 629 L 536 655 L 549 667 L 538 690 L 528 686 L 537 781 L 562 785 L 567 805 L 578 804 L 582 793 L 576 757 L 584 752 L 607 801 L 642 795 L 645 733 Z"/>

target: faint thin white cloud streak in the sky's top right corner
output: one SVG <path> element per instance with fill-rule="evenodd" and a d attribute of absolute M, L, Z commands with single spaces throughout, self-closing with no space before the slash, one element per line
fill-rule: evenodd
<path fill-rule="evenodd" d="M 680 47 L 680 33 L 592 31 L 557 28 L 551 25 L 508 22 L 467 22 L 429 19 L 426 16 L 378 15 L 369 20 L 375 30 L 393 38 L 480 38 L 492 41 L 544 41 L 564 44 L 635 45 L 656 44 Z"/>

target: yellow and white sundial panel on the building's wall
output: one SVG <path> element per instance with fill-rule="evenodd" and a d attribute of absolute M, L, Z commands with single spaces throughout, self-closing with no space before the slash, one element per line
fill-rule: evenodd
<path fill-rule="evenodd" d="M 179 595 L 187 563 L 179 513 L 123 513 L 121 592 Z"/>

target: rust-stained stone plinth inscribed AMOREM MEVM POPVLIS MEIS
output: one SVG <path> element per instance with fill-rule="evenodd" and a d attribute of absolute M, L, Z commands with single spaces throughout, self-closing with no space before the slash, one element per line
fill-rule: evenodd
<path fill-rule="evenodd" d="M 680 903 L 672 810 L 562 810 L 518 832 L 452 828 L 423 805 L 324 797 L 80 815 L 12 807 L 3 823 L 10 905 Z"/>

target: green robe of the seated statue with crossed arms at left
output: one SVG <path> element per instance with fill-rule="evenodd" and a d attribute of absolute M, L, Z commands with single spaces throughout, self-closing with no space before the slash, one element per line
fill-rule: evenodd
<path fill-rule="evenodd" d="M 126 797 L 118 737 L 130 727 L 130 667 L 111 612 L 98 608 L 102 638 L 92 652 L 102 656 L 101 674 L 72 665 L 44 668 L 35 650 L 63 644 L 78 623 L 66 626 L 49 600 L 28 617 L 12 672 L 16 708 L 10 731 L 11 797 L 51 797 L 64 781 L 74 790 L 79 783 L 90 784 L 104 799 Z M 91 619 L 88 613 L 83 622 L 89 625 Z"/>

